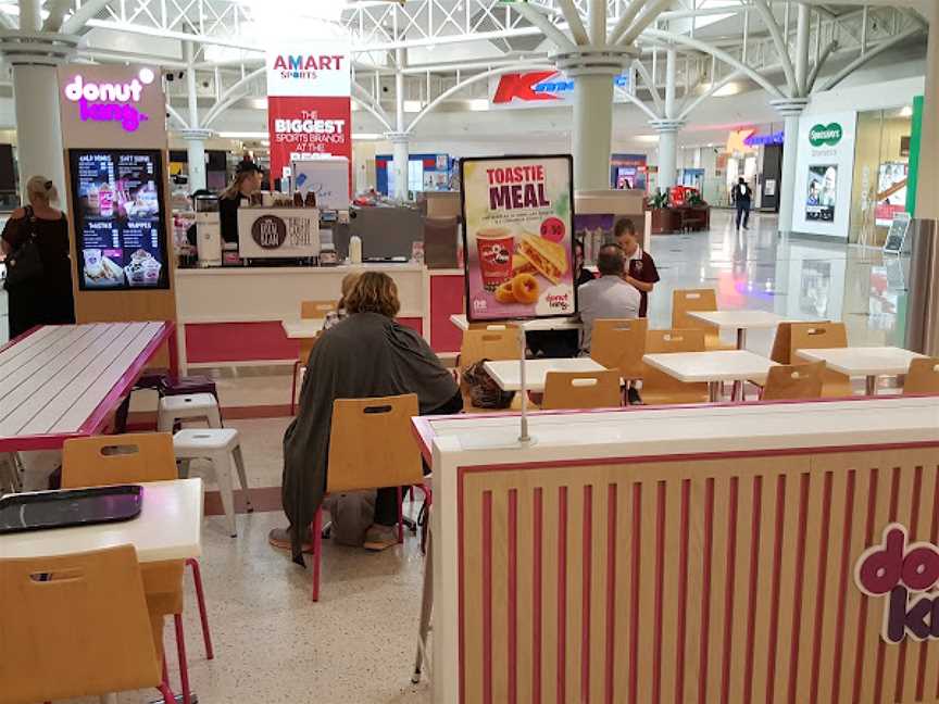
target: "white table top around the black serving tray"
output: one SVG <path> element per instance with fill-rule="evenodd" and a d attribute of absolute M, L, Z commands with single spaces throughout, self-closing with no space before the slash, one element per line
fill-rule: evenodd
<path fill-rule="evenodd" d="M 123 523 L 0 536 L 0 557 L 45 557 L 133 544 L 137 560 L 185 560 L 202 552 L 202 480 L 143 486 L 140 515 Z"/>

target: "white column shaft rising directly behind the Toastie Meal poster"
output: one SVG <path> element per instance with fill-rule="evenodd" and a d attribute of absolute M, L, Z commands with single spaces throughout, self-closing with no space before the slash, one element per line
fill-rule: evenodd
<path fill-rule="evenodd" d="M 613 139 L 613 76 L 578 74 L 574 78 L 574 188 L 610 188 Z"/>

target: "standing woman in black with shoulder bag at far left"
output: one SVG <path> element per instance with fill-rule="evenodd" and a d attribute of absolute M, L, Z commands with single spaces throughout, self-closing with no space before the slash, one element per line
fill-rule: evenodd
<path fill-rule="evenodd" d="M 11 340 L 36 325 L 75 323 L 68 221 L 62 211 L 52 208 L 58 200 L 59 192 L 52 181 L 45 176 L 34 176 L 26 183 L 28 205 L 13 211 L 0 235 L 0 248 L 8 264 L 18 254 L 28 256 L 24 244 L 30 239 L 41 263 L 41 266 L 30 266 L 28 276 L 22 280 L 8 278 Z M 8 277 L 10 273 L 8 268 Z"/>

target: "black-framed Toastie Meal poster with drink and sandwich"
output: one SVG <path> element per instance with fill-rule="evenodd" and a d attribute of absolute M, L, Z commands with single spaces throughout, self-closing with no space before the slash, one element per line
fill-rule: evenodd
<path fill-rule="evenodd" d="M 574 168 L 569 155 L 460 163 L 466 316 L 574 315 Z"/>

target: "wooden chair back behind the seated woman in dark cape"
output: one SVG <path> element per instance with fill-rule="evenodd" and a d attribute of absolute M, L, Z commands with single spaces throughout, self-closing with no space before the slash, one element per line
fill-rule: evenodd
<path fill-rule="evenodd" d="M 336 399 L 326 491 L 420 485 L 421 450 L 411 428 L 418 414 L 416 393 Z"/>

